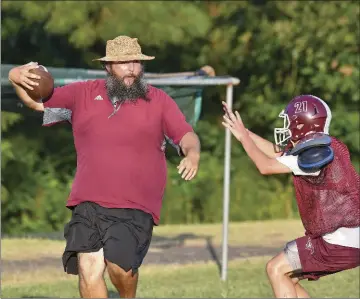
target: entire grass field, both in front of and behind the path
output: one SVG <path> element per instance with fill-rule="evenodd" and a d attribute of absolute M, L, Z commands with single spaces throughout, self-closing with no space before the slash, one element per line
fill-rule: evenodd
<path fill-rule="evenodd" d="M 282 229 L 280 233 L 280 229 Z M 260 245 L 283 243 L 302 234 L 299 221 L 271 221 L 231 224 L 230 244 Z M 221 225 L 163 226 L 155 229 L 159 238 L 197 236 L 184 246 L 202 244 L 202 237 L 221 242 Z M 2 240 L 2 259 L 36 260 L 41 257 L 61 258 L 62 241 L 34 239 Z M 138 297 L 151 298 L 261 298 L 271 297 L 264 267 L 270 256 L 237 259 L 229 262 L 228 281 L 222 283 L 214 262 L 187 265 L 144 265 L 140 272 Z M 107 278 L 107 282 L 109 282 Z M 318 282 L 303 282 L 310 295 L 321 298 L 359 298 L 359 268 L 324 277 Z M 109 286 L 109 296 L 118 297 Z M 1 298 L 78 298 L 77 277 L 61 269 L 44 267 L 2 274 Z"/>

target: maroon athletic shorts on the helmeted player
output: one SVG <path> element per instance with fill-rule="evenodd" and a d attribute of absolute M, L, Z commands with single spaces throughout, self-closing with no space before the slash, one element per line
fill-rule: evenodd
<path fill-rule="evenodd" d="M 287 243 L 284 252 L 294 273 L 301 279 L 318 280 L 360 265 L 360 249 L 330 244 L 322 237 L 298 238 Z"/>

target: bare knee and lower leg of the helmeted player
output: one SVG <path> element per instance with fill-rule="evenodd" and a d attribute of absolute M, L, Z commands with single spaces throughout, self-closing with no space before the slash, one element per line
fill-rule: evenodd
<path fill-rule="evenodd" d="M 310 298 L 299 284 L 298 278 L 291 278 L 294 271 L 285 252 L 279 253 L 266 265 L 266 272 L 276 298 Z"/>

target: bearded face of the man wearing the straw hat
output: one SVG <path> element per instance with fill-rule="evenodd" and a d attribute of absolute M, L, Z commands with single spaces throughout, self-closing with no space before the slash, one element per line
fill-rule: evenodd
<path fill-rule="evenodd" d="M 120 102 L 146 98 L 147 84 L 140 61 L 112 62 L 106 65 L 106 89 L 111 100 Z"/>

